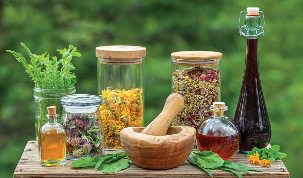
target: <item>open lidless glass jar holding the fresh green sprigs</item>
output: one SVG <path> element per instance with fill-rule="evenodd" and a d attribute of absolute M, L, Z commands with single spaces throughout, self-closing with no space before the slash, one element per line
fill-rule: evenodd
<path fill-rule="evenodd" d="M 59 117 L 62 116 L 62 106 L 59 99 L 66 95 L 75 94 L 75 87 L 68 89 L 40 89 L 34 88 L 34 99 L 35 99 L 35 133 L 36 140 L 38 141 L 38 132 L 43 124 L 47 123 L 47 108 L 48 106 L 56 106 L 57 114 Z"/>

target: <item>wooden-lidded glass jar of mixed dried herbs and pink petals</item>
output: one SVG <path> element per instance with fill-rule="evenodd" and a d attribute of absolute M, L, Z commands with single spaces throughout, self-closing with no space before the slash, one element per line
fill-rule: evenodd
<path fill-rule="evenodd" d="M 183 96 L 185 105 L 174 125 L 192 126 L 211 116 L 209 106 L 220 101 L 221 52 L 180 51 L 171 53 L 172 92 Z"/>

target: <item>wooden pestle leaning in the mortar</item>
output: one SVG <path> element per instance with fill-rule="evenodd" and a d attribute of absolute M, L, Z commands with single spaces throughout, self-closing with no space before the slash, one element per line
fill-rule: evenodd
<path fill-rule="evenodd" d="M 181 112 L 184 99 L 178 93 L 170 94 L 164 104 L 161 113 L 141 133 L 153 136 L 166 135 L 167 129 L 174 118 Z"/>

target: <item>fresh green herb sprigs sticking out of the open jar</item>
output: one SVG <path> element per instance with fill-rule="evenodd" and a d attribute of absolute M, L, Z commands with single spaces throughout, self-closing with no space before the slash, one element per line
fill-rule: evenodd
<path fill-rule="evenodd" d="M 25 71 L 32 78 L 36 88 L 40 89 L 68 89 L 72 88 L 76 83 L 76 76 L 71 70 L 75 70 L 71 63 L 73 57 L 80 57 L 77 47 L 69 45 L 68 49 L 57 49 L 62 54 L 61 59 L 53 56 L 50 59 L 49 54 L 45 52 L 42 55 L 33 54 L 24 43 L 20 43 L 26 50 L 30 58 L 31 64 L 21 53 L 12 50 L 6 52 L 12 53 L 18 62 L 21 62 Z M 62 65 L 61 67 L 59 65 Z"/>

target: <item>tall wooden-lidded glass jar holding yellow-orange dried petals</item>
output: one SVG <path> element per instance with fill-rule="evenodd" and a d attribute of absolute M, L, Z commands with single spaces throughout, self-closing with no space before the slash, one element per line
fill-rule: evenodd
<path fill-rule="evenodd" d="M 144 111 L 144 58 L 141 46 L 100 46 L 98 95 L 101 96 L 100 122 L 104 148 L 121 150 L 120 130 L 141 127 Z"/>

